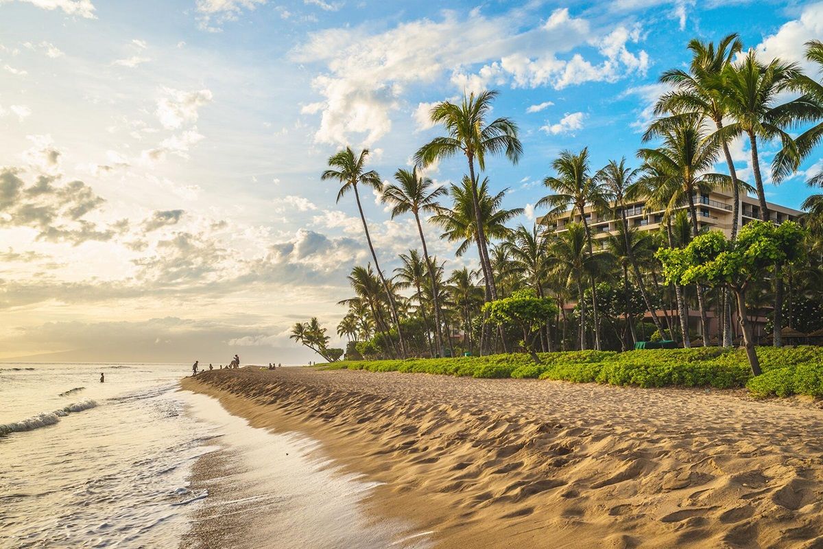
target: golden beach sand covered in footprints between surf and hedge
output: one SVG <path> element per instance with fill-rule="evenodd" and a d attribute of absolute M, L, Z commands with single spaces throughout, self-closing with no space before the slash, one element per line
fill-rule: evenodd
<path fill-rule="evenodd" d="M 823 547 L 820 402 L 308 368 L 183 387 L 320 440 L 435 547 Z"/>

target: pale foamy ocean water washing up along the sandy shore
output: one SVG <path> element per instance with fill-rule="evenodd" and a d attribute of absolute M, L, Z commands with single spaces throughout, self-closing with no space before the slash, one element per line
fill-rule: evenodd
<path fill-rule="evenodd" d="M 374 485 L 317 441 L 179 391 L 189 367 L 0 363 L 0 549 L 211 547 L 193 534 L 208 521 L 223 547 L 430 546 L 367 516 Z M 196 463 L 220 470 L 209 487 L 192 489 Z"/>

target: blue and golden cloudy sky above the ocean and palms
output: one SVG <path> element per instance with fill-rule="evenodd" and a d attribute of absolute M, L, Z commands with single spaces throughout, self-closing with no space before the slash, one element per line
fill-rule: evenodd
<path fill-rule="evenodd" d="M 319 178 L 340 147 L 388 180 L 439 135 L 431 105 L 499 90 L 524 153 L 486 175 L 529 226 L 559 151 L 637 165 L 660 73 L 730 32 L 803 63 L 823 2 L 0 0 L 0 361 L 316 360 L 291 326 L 317 316 L 340 344 L 370 261 L 353 197 Z M 768 199 L 799 206 L 820 159 Z M 389 272 L 415 226 L 364 198 Z M 425 230 L 447 270 L 476 262 Z"/>

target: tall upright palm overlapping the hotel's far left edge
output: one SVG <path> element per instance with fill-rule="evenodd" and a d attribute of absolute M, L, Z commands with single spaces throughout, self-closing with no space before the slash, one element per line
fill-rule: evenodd
<path fill-rule="evenodd" d="M 570 219 L 574 213 L 579 213 L 586 243 L 588 244 L 588 254 L 593 254 L 592 230 L 588 226 L 586 208 L 593 210 L 592 217 L 598 212 L 605 212 L 608 208 L 608 200 L 602 185 L 593 178 L 589 170 L 588 147 L 574 154 L 572 151 L 562 151 L 551 167 L 556 172 L 556 177 L 546 176 L 543 184 L 551 188 L 554 193 L 547 195 L 537 201 L 537 207 L 549 207 L 549 214 L 565 212 L 569 210 Z M 590 277 L 592 290 L 592 316 L 594 321 L 594 348 L 600 350 L 600 329 L 597 319 L 597 286 L 594 283 L 595 273 Z"/>

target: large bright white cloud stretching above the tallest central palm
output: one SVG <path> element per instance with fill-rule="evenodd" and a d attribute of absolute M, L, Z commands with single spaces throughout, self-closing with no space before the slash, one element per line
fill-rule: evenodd
<path fill-rule="evenodd" d="M 566 8 L 537 26 L 532 19 L 523 9 L 490 17 L 479 10 L 465 17 L 447 11 L 441 21 L 407 21 L 377 34 L 363 28 L 314 33 L 292 57 L 328 68 L 313 81 L 323 100 L 303 109 L 305 114 L 320 114 L 315 140 L 370 145 L 390 131 L 390 114 L 400 108 L 409 86 L 449 75 L 458 91 L 492 84 L 562 89 L 586 81 L 616 81 L 648 68 L 648 55 L 629 49 L 641 38 L 639 26 L 596 28 Z M 597 50 L 594 60 L 579 53 L 568 56 L 571 50 L 591 46 Z M 422 128 L 424 105 L 414 113 Z"/>

